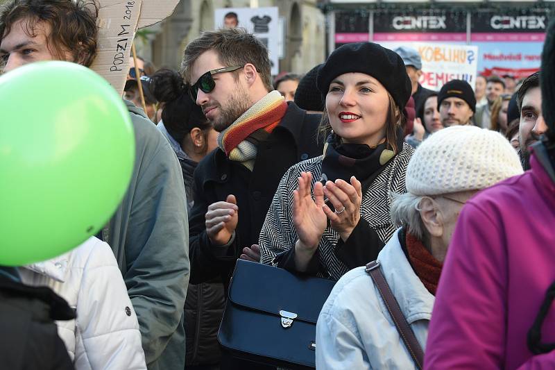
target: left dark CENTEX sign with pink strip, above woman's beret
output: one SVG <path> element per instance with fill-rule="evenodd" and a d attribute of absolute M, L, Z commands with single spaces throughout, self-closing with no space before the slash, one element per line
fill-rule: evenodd
<path fill-rule="evenodd" d="M 374 42 L 466 42 L 466 12 L 387 11 L 374 14 Z"/>

